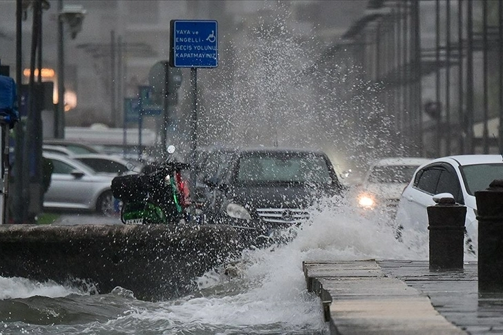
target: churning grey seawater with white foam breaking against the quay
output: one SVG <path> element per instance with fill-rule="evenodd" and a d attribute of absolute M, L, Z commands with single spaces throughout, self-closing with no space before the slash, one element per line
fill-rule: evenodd
<path fill-rule="evenodd" d="M 169 301 L 139 301 L 26 278 L 0 277 L 0 335 L 7 334 L 327 334 L 322 306 L 307 292 L 302 261 L 427 258 L 427 238 L 391 219 L 362 216 L 331 201 L 311 211 L 289 242 L 244 250 L 194 278 L 198 290 Z"/>

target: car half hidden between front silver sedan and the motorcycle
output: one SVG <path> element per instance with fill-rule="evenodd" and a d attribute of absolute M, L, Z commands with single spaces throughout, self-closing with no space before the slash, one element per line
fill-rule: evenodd
<path fill-rule="evenodd" d="M 139 161 L 127 160 L 109 154 L 74 154 L 72 159 L 88 165 L 96 172 L 110 174 L 139 173 L 144 167 Z"/>

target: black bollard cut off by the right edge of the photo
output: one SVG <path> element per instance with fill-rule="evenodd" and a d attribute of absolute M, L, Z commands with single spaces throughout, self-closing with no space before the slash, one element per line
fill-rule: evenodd
<path fill-rule="evenodd" d="M 503 180 L 475 192 L 479 292 L 503 292 Z"/>

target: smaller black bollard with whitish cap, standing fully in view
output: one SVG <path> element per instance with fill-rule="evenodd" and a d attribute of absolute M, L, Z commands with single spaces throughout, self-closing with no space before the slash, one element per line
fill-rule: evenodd
<path fill-rule="evenodd" d="M 466 207 L 454 198 L 435 197 L 437 205 L 428 206 L 430 231 L 430 271 L 463 270 L 464 221 Z"/>

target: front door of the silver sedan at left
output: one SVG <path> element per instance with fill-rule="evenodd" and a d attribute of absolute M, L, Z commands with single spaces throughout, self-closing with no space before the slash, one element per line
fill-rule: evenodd
<path fill-rule="evenodd" d="M 54 166 L 50 186 L 44 194 L 44 205 L 63 208 L 89 208 L 93 196 L 92 176 L 77 166 L 57 158 L 50 158 Z M 81 172 L 76 176 L 72 172 Z"/>

